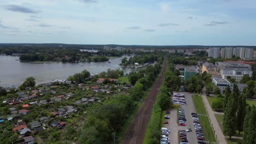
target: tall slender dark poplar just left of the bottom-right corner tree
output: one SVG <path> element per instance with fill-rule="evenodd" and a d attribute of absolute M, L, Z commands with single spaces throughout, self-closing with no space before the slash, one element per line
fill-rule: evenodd
<path fill-rule="evenodd" d="M 243 122 L 246 115 L 246 97 L 245 94 L 240 94 L 238 97 L 238 106 L 237 106 L 237 119 L 236 119 L 236 128 L 240 132 L 243 130 Z"/>

